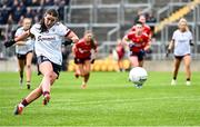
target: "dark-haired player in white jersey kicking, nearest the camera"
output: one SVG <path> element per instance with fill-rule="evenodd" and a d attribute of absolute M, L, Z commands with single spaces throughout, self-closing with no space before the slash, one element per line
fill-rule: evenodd
<path fill-rule="evenodd" d="M 6 47 L 9 47 L 16 41 L 24 40 L 33 35 L 36 39 L 34 51 L 38 60 L 38 70 L 43 76 L 39 87 L 17 105 L 14 115 L 22 114 L 23 108 L 41 95 L 43 95 L 43 105 L 49 102 L 50 86 L 58 79 L 62 63 L 61 40 L 63 37 L 71 39 L 73 42 L 79 40 L 73 31 L 58 21 L 58 16 L 57 10 L 47 10 L 41 22 L 33 25 L 30 30 L 18 36 L 14 40 L 4 43 Z"/>

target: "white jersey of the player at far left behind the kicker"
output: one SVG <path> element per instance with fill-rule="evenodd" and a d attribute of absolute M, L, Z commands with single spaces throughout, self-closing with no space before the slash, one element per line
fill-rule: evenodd
<path fill-rule="evenodd" d="M 17 31 L 16 31 L 14 37 L 21 36 L 23 32 L 24 32 L 23 27 L 18 28 Z M 17 45 L 16 46 L 16 52 L 17 53 L 26 55 L 27 52 L 33 50 L 34 41 L 30 37 L 28 39 L 26 39 L 24 41 L 26 41 L 24 45 L 21 45 L 21 46 Z"/>

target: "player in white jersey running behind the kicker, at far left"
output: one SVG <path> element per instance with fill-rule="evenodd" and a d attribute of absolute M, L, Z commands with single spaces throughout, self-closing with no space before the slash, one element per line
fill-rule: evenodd
<path fill-rule="evenodd" d="M 14 37 L 22 35 L 24 31 L 29 30 L 31 27 L 32 20 L 29 18 L 24 18 L 22 21 L 22 27 L 18 28 Z M 18 41 L 16 43 L 16 53 L 18 59 L 18 69 L 20 75 L 20 86 L 23 82 L 23 69 L 27 67 L 26 76 L 27 76 L 27 88 L 30 89 L 31 85 L 31 62 L 33 57 L 33 40 L 31 37 L 27 38 L 23 41 Z"/>

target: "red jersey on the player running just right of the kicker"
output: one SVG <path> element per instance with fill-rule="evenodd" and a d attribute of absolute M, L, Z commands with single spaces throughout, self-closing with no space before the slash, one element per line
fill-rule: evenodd
<path fill-rule="evenodd" d="M 94 46 L 92 47 L 91 43 L 87 43 L 84 39 L 81 39 L 76 43 L 76 57 L 89 58 L 91 56 L 91 49 L 97 50 L 97 43 L 94 43 Z"/>

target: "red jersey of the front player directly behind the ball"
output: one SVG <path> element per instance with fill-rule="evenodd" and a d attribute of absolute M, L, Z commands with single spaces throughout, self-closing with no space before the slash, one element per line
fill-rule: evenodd
<path fill-rule="evenodd" d="M 142 32 L 141 36 L 137 36 L 136 32 L 131 31 L 128 33 L 127 38 L 134 43 L 130 50 L 133 52 L 139 52 L 149 43 L 149 37 L 146 32 Z"/>

